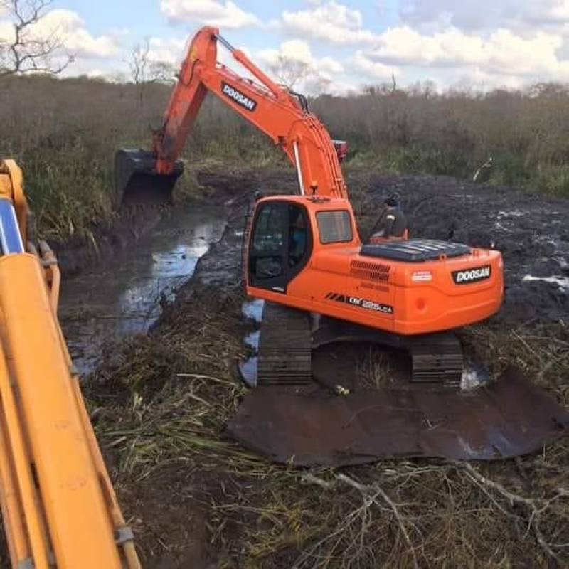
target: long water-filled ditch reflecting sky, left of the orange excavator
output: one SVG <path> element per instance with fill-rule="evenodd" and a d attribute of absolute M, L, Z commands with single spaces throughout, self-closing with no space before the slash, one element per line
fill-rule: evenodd
<path fill-rule="evenodd" d="M 130 250 L 61 287 L 60 320 L 81 373 L 92 371 L 105 344 L 148 331 L 161 305 L 187 282 L 225 228 L 220 208 L 193 208 L 164 219 Z"/>

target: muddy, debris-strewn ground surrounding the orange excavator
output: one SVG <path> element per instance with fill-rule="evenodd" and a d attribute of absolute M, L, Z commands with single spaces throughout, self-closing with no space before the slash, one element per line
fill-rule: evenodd
<path fill-rule="evenodd" d="M 361 233 L 398 191 L 412 235 L 495 246 L 506 303 L 464 334 L 493 369 L 514 362 L 565 405 L 569 202 L 432 176 L 347 173 Z M 566 442 L 474 468 L 436 460 L 301 471 L 225 435 L 245 387 L 243 225 L 255 191 L 290 171 L 203 171 L 228 204 L 222 238 L 149 334 L 85 381 L 92 420 L 149 568 L 535 567 L 569 563 Z"/>

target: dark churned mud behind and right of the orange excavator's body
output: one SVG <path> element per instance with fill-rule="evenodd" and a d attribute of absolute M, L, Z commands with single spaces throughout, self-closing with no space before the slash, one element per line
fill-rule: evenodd
<path fill-rule="evenodd" d="M 567 317 L 569 291 L 560 282 L 569 275 L 568 201 L 442 176 L 371 176 L 367 186 L 368 196 L 361 200 L 365 215 L 373 211 L 374 200 L 396 191 L 411 235 L 502 252 L 506 298 L 494 321 L 519 324 Z"/>

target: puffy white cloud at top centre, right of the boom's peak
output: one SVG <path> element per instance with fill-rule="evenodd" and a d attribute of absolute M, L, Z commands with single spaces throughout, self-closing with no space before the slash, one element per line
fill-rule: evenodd
<path fill-rule="evenodd" d="M 304 34 L 311 39 L 339 45 L 371 43 L 375 37 L 371 31 L 363 28 L 361 11 L 339 4 L 336 0 L 306 10 L 285 10 L 276 24 L 289 33 Z"/>

